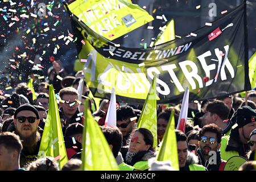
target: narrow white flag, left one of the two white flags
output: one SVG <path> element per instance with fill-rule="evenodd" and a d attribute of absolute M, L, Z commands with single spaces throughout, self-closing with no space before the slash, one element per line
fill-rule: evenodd
<path fill-rule="evenodd" d="M 115 100 L 115 89 L 112 88 L 108 113 L 106 115 L 105 125 L 117 126 L 117 106 Z"/>

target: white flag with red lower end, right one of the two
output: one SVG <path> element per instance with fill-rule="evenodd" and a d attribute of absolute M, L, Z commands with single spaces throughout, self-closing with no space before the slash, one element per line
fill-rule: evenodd
<path fill-rule="evenodd" d="M 185 133 L 185 127 L 188 116 L 188 98 L 189 98 L 189 90 L 188 87 L 185 89 L 182 105 L 180 109 L 179 121 L 177 123 L 177 130 L 183 131 Z"/>

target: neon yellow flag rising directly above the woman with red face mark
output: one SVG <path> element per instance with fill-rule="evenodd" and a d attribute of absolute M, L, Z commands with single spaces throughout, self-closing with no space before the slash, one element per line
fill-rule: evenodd
<path fill-rule="evenodd" d="M 152 80 L 150 90 L 148 91 L 146 101 L 143 105 L 141 117 L 139 117 L 138 128 L 145 128 L 151 131 L 154 137 L 154 146 L 158 146 L 157 136 L 157 115 L 156 115 L 156 75 Z"/>

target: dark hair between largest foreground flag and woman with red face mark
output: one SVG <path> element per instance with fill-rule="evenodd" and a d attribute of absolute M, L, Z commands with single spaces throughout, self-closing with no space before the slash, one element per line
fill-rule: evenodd
<path fill-rule="evenodd" d="M 102 133 L 104 134 L 106 140 L 109 144 L 112 144 L 112 152 L 114 157 L 116 158 L 118 155 L 118 152 L 122 146 L 122 133 L 118 129 L 118 127 L 109 127 L 109 126 L 100 126 Z"/>

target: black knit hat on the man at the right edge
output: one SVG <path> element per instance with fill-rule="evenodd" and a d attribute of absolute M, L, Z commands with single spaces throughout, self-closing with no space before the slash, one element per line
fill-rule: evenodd
<path fill-rule="evenodd" d="M 249 106 L 243 106 L 237 110 L 238 128 L 256 121 L 256 111 Z"/>

